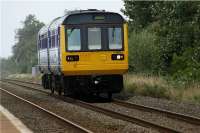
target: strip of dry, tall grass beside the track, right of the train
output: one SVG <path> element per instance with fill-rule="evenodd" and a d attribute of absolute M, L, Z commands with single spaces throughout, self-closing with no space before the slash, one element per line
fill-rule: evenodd
<path fill-rule="evenodd" d="M 200 84 L 181 84 L 164 77 L 142 74 L 124 76 L 125 91 L 134 95 L 200 103 Z"/>

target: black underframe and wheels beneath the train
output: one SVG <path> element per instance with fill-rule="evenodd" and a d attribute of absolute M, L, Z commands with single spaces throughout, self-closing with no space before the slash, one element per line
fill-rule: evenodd
<path fill-rule="evenodd" d="M 64 76 L 44 74 L 42 85 L 45 89 L 50 89 L 51 93 L 64 93 L 65 96 L 88 95 L 107 93 L 108 98 L 112 98 L 113 93 L 119 93 L 123 88 L 122 75 L 98 75 L 98 76 Z"/>

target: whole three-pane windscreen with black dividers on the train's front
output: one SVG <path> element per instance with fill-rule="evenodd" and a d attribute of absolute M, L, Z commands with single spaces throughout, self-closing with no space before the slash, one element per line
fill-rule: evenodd
<path fill-rule="evenodd" d="M 65 31 L 67 51 L 123 50 L 122 25 L 79 25 Z"/>

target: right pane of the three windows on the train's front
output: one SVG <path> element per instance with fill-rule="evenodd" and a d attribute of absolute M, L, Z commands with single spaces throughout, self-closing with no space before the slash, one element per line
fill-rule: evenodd
<path fill-rule="evenodd" d="M 121 28 L 108 28 L 109 49 L 122 49 L 122 31 Z"/>

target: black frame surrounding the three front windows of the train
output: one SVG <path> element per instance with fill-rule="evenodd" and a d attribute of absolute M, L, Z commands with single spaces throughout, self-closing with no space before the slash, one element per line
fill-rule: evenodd
<path fill-rule="evenodd" d="M 88 49 L 88 28 L 97 27 L 101 28 L 101 49 Z M 109 34 L 108 28 L 121 28 L 122 48 L 109 49 Z M 68 50 L 67 28 L 80 29 L 81 49 Z M 104 24 L 76 24 L 65 26 L 65 51 L 66 52 L 98 52 L 98 51 L 124 51 L 124 28 L 123 23 L 104 23 Z"/>

